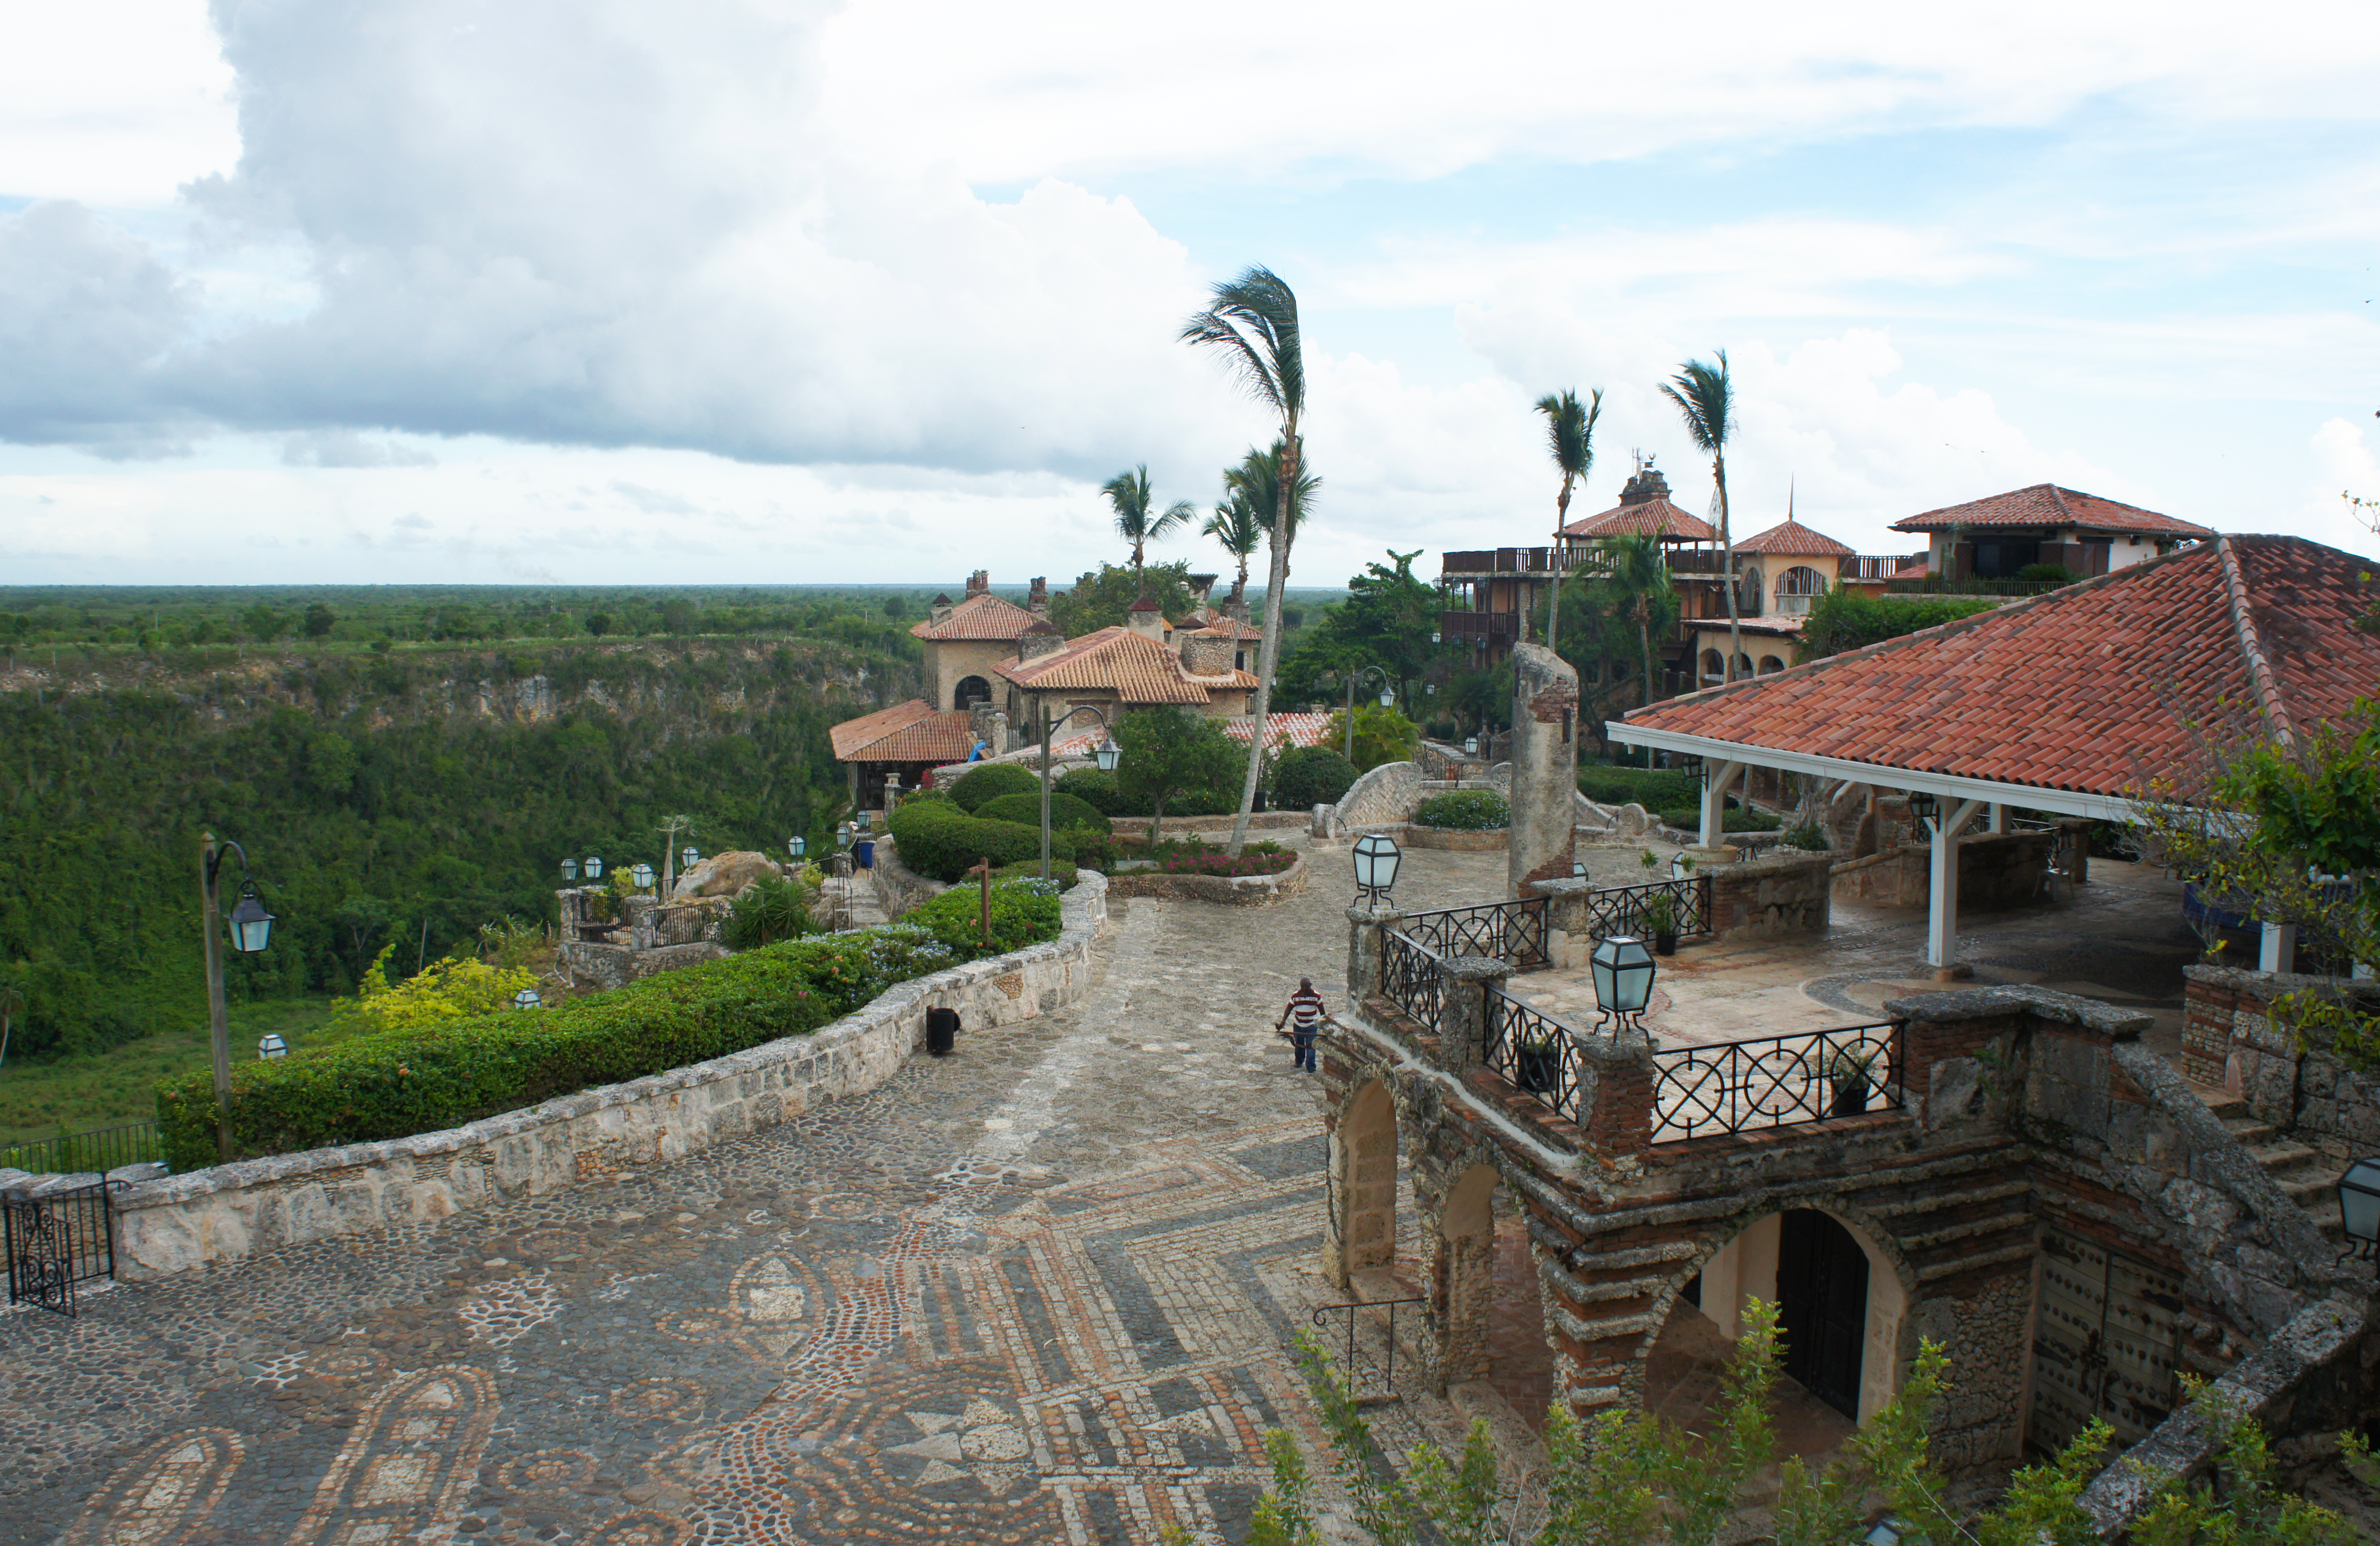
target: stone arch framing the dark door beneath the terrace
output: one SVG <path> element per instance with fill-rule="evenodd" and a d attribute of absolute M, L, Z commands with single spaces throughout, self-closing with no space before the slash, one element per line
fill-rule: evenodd
<path fill-rule="evenodd" d="M 1754 1213 L 1740 1213 L 1702 1239 L 1699 1249 L 1668 1275 L 1647 1313 L 1637 1365 L 1652 1358 L 1661 1330 L 1678 1308 L 1690 1282 L 1702 1282 L 1702 1313 L 1730 1341 L 1737 1337 L 1745 1296 L 1775 1301 L 1775 1244 L 1783 1218 L 1795 1211 L 1825 1213 L 1852 1232 L 1868 1258 L 1866 1339 L 1859 1365 L 1859 1422 L 1873 1418 L 1902 1389 L 1909 1360 L 1916 1356 L 1918 1275 L 1892 1230 L 1866 1208 L 1852 1208 L 1840 1196 L 1785 1196 Z"/>

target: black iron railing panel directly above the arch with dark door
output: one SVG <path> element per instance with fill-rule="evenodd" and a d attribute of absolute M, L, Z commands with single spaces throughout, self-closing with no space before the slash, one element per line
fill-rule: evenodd
<path fill-rule="evenodd" d="M 1902 1068 L 1897 1020 L 1656 1051 L 1652 1142 L 1899 1111 Z"/>

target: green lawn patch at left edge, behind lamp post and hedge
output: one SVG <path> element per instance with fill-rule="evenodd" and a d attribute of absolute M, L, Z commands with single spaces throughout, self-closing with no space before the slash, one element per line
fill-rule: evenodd
<path fill-rule="evenodd" d="M 257 1056 L 276 1032 L 290 1051 L 343 1039 L 331 1030 L 331 999 L 269 999 L 231 1006 L 231 1056 Z M 157 1118 L 157 1080 L 207 1068 L 207 1030 L 176 1030 L 126 1042 L 114 1051 L 0 1066 L 0 1144 Z"/>

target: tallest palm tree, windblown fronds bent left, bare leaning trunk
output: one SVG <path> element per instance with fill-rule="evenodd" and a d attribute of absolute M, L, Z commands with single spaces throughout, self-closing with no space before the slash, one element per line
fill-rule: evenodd
<path fill-rule="evenodd" d="M 1280 664 L 1280 590 L 1290 578 L 1290 495 L 1299 485 L 1307 414 L 1307 354 L 1297 333 L 1297 293 L 1271 269 L 1254 266 L 1214 288 L 1207 309 L 1183 323 L 1180 340 L 1223 350 L 1240 385 L 1280 416 L 1280 471 L 1273 488 L 1273 552 L 1264 587 L 1264 640 L 1257 645 L 1257 735 L 1273 709 L 1273 668 Z M 1257 742 L 1250 742 L 1254 747 Z M 1230 854 L 1247 844 L 1247 813 L 1257 806 L 1257 756 L 1250 752 L 1240 787 L 1240 818 L 1230 823 Z"/>

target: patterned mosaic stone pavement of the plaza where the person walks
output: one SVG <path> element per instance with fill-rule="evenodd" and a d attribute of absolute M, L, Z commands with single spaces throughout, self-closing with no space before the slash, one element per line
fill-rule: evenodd
<path fill-rule="evenodd" d="M 0 1315 L 0 1544 L 1242 1539 L 1330 1296 L 1271 1020 L 1345 890 L 1119 901 L 1083 1004 L 695 1158 Z"/>

